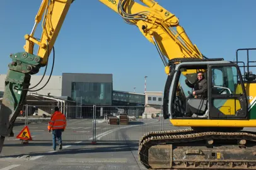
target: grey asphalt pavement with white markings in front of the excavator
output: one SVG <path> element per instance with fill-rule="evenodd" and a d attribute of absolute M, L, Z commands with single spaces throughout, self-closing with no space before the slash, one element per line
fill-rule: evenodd
<path fill-rule="evenodd" d="M 52 133 L 47 131 L 49 120 L 33 120 L 28 124 L 32 141 L 21 144 L 16 135 L 25 126 L 16 121 L 15 137 L 6 138 L 0 154 L 0 170 L 27 169 L 145 169 L 138 161 L 137 149 L 141 136 L 161 130 L 161 121 L 138 119 L 129 125 L 109 125 L 96 121 L 96 144 L 93 139 L 93 121 L 67 120 L 62 134 L 63 149 L 52 150 Z M 174 130 L 165 120 L 164 130 Z"/>

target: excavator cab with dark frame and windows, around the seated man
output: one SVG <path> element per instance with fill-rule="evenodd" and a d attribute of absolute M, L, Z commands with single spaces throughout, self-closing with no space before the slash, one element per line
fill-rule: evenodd
<path fill-rule="evenodd" d="M 237 64 L 223 59 L 175 59 L 170 60 L 169 64 L 172 69 L 166 87 L 173 89 L 170 91 L 168 103 L 168 113 L 172 119 L 247 120 L 249 118 L 247 94 Z M 187 80 L 193 84 L 197 81 L 199 71 L 204 72 L 204 79 L 207 81 L 206 96 L 193 95 L 194 89 L 185 82 Z M 168 91 L 166 87 L 165 90 Z M 166 100 L 165 91 L 164 102 L 169 99 Z M 187 107 L 191 114 L 186 113 Z"/>

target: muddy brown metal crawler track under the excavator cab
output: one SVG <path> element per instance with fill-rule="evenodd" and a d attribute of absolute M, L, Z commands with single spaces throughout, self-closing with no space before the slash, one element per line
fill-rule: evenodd
<path fill-rule="evenodd" d="M 256 132 L 146 133 L 139 160 L 147 169 L 256 169 Z"/>

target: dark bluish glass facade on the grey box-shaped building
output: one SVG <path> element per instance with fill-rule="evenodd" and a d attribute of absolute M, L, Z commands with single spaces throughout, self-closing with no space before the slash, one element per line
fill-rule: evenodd
<path fill-rule="evenodd" d="M 72 82 L 71 98 L 82 98 L 82 105 L 112 105 L 112 83 Z"/>

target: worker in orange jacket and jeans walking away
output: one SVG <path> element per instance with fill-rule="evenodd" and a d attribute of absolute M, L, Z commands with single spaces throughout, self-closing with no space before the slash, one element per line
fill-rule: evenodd
<path fill-rule="evenodd" d="M 48 124 L 48 132 L 52 130 L 52 147 L 56 150 L 56 139 L 59 141 L 59 149 L 62 149 L 62 132 L 66 128 L 66 116 L 59 111 L 58 107 L 54 108 L 54 114 L 50 116 L 50 122 Z"/>

